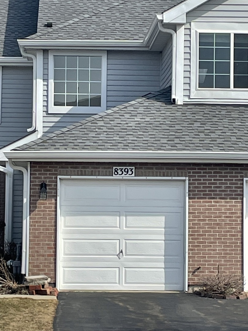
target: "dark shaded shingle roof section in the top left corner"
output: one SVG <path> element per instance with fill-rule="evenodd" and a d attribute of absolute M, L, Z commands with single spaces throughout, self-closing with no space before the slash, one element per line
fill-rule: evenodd
<path fill-rule="evenodd" d="M 0 56 L 21 56 L 17 39 L 36 32 L 39 0 L 0 1 Z"/>

